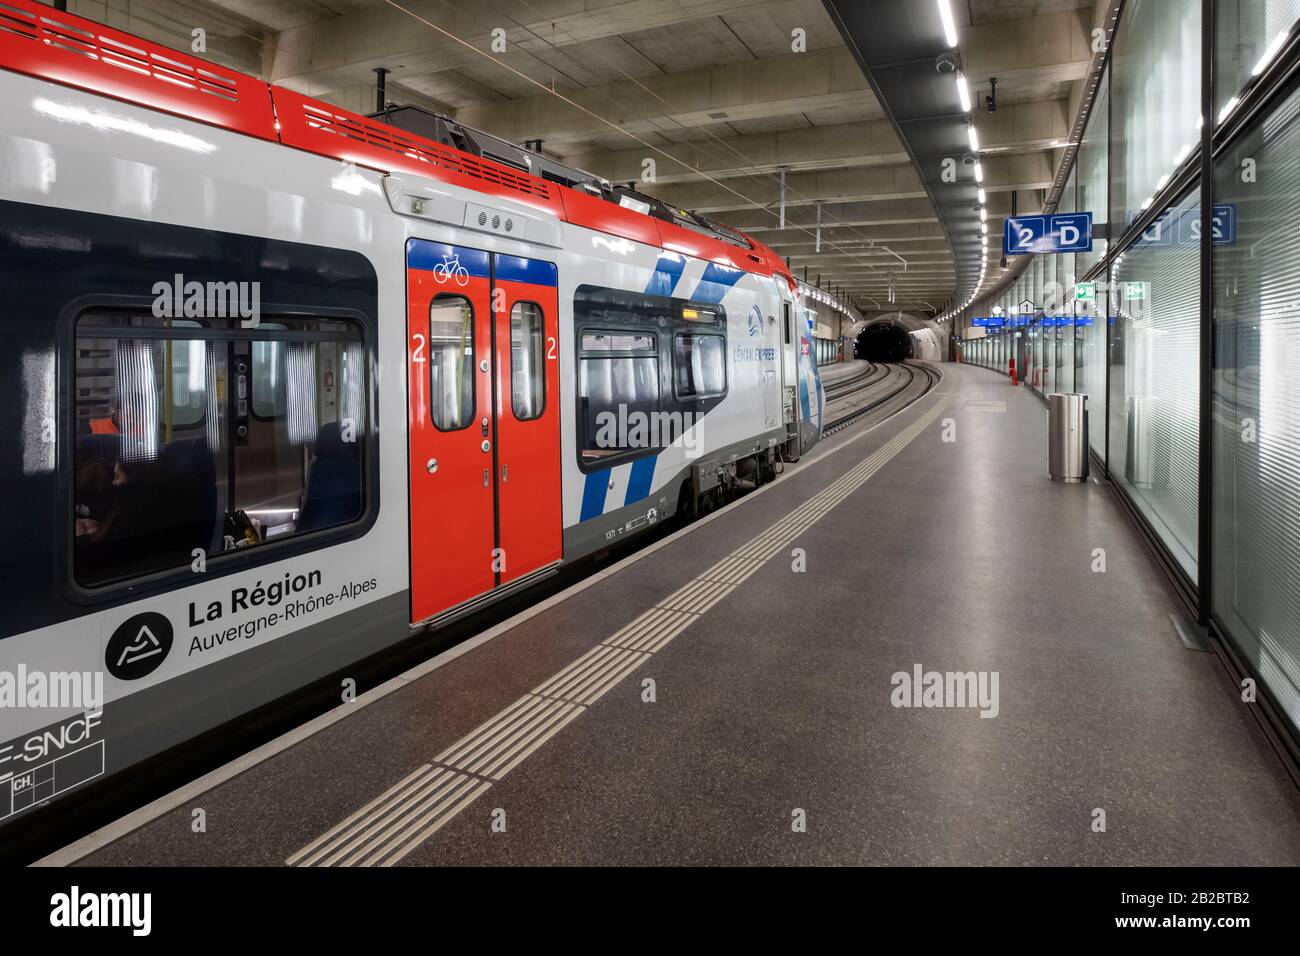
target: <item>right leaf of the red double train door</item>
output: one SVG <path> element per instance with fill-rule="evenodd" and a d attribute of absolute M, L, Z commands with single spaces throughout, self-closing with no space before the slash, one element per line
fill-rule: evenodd
<path fill-rule="evenodd" d="M 552 263 L 493 256 L 497 510 L 504 584 L 559 561 L 560 375 Z"/>

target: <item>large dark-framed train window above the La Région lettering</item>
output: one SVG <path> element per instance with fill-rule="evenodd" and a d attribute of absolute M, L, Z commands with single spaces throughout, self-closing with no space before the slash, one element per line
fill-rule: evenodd
<path fill-rule="evenodd" d="M 246 329 L 91 312 L 77 323 L 73 372 L 73 574 L 84 587 L 364 512 L 369 390 L 356 323 Z M 283 414 L 252 415 L 255 394 L 282 394 Z"/>

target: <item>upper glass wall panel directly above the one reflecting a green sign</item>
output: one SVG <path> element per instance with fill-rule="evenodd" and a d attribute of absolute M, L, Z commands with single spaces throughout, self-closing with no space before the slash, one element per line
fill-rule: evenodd
<path fill-rule="evenodd" d="M 1200 142 L 1200 3 L 1124 4 L 1112 70 L 1110 224 L 1118 235 Z"/>

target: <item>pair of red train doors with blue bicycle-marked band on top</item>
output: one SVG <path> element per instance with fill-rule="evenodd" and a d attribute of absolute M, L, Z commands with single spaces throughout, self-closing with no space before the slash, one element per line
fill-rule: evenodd
<path fill-rule="evenodd" d="M 412 622 L 560 557 L 555 294 L 550 263 L 407 245 Z"/>

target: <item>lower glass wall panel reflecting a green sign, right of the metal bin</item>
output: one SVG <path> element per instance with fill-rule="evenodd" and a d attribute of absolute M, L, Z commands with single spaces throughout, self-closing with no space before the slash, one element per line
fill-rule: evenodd
<path fill-rule="evenodd" d="M 1112 268 L 1110 475 L 1196 576 L 1200 433 L 1200 193 L 1164 213 Z M 1154 234 L 1154 230 L 1150 233 Z"/>

